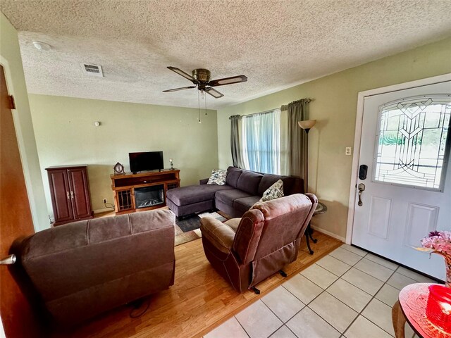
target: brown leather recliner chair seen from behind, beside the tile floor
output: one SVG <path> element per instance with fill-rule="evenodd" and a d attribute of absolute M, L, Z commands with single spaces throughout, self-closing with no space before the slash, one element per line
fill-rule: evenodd
<path fill-rule="evenodd" d="M 318 204 L 314 194 L 294 194 L 254 205 L 226 223 L 202 218 L 206 258 L 238 292 L 296 260 L 299 244 Z"/>

